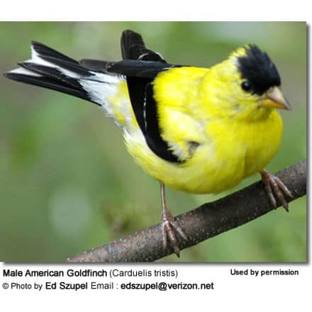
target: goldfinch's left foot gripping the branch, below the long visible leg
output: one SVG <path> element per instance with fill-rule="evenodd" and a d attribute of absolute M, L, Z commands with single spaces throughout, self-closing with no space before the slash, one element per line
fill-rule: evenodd
<path fill-rule="evenodd" d="M 184 238 L 184 240 L 188 240 L 187 235 L 182 230 L 181 226 L 177 221 L 174 220 L 174 217 L 169 211 L 164 211 L 162 213 L 162 242 L 164 250 L 167 250 L 168 240 L 172 243 L 172 247 L 174 249 L 174 253 L 179 257 L 180 250 L 177 242 L 176 233 Z"/>

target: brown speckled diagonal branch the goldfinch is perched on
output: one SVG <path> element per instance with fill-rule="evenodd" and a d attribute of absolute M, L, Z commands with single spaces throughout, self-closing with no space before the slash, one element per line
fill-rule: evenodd
<path fill-rule="evenodd" d="M 297 199 L 306 194 L 306 160 L 277 173 Z M 294 199 L 289 199 L 292 201 Z M 274 208 L 264 191 L 262 182 L 256 182 L 245 189 L 223 199 L 203 204 L 199 208 L 177 216 L 189 240 L 178 237 L 180 249 L 196 245 L 231 228 L 258 218 Z M 160 224 L 141 230 L 113 243 L 96 247 L 67 259 L 69 262 L 126 262 L 155 261 L 173 252 L 162 248 Z"/>

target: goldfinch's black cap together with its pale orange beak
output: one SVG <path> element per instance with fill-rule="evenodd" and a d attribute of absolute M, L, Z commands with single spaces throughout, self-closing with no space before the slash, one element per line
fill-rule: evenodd
<path fill-rule="evenodd" d="M 242 89 L 261 96 L 262 107 L 290 109 L 279 89 L 281 78 L 277 67 L 266 52 L 257 45 L 246 45 L 244 53 L 237 56 L 237 65 L 243 79 Z"/>

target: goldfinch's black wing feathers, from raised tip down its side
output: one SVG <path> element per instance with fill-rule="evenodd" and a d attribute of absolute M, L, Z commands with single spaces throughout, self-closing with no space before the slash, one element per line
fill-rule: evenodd
<path fill-rule="evenodd" d="M 132 30 L 121 35 L 121 53 L 123 61 L 106 65 L 106 70 L 126 76 L 133 112 L 148 147 L 164 160 L 181 162 L 162 138 L 152 87 L 157 74 L 175 65 L 167 64 L 159 53 L 147 49 L 141 35 Z"/>

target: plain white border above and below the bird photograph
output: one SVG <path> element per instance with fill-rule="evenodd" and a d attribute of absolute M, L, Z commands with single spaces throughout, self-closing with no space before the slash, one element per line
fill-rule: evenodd
<path fill-rule="evenodd" d="M 39 6 L 38 6 L 39 4 Z M 311 9 L 308 1 L 5 1 L 1 4 L 2 21 L 307 21 L 311 24 Z M 1 23 L 0 23 L 1 27 Z M 308 64 L 310 64 L 308 62 Z M 309 68 L 311 69 L 311 68 Z M 308 81 L 308 87 L 311 82 Z M 311 116 L 309 116 L 311 117 Z M 310 136 L 308 135 L 310 142 Z M 308 189 L 310 191 L 310 189 Z M 311 216 L 311 213 L 308 214 Z M 311 221 L 311 220 L 310 220 Z M 308 239 L 308 243 L 310 240 Z M 310 248 L 308 248 L 310 250 Z M 168 266 L 180 270 L 185 281 L 213 280 L 216 289 L 211 292 L 177 291 L 4 291 L 4 279 L 0 274 L 2 311 L 83 311 L 92 308 L 122 309 L 135 311 L 191 311 L 194 308 L 218 311 L 298 311 L 311 306 L 311 265 L 293 265 L 299 269 L 297 277 L 230 277 L 230 267 L 243 270 L 248 264 L 188 264 Z M 48 265 L 40 264 L 44 269 Z M 149 265 L 147 264 L 147 267 Z M 282 266 L 282 265 L 281 265 Z M 0 264 L 1 271 L 11 267 Z M 14 266 L 13 266 L 14 267 Z M 16 265 L 16 269 L 31 265 Z M 55 267 L 55 266 L 51 266 Z M 59 269 L 68 265 L 57 265 Z M 74 266 L 86 268 L 87 266 Z M 96 267 L 101 267 L 96 266 Z M 140 266 L 142 268 L 143 265 Z M 162 266 L 163 268 L 165 266 Z M 255 267 L 255 265 L 252 265 Z M 261 264 L 257 265 L 261 267 Z M 267 266 L 265 266 L 267 268 Z M 282 266 L 284 267 L 284 266 Z M 276 266 L 274 266 L 276 268 Z M 5 309 L 6 308 L 6 309 Z M 302 309 L 301 309 L 302 308 Z M 239 310 L 238 310 L 239 309 Z"/>

